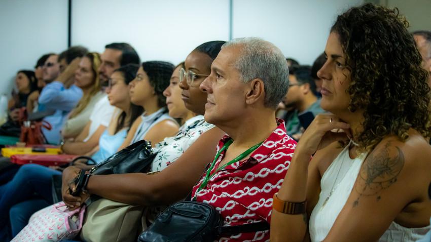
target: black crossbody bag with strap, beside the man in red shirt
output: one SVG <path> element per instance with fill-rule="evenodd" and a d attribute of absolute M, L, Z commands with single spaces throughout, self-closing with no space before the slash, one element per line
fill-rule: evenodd
<path fill-rule="evenodd" d="M 220 214 L 198 201 L 180 201 L 169 206 L 143 231 L 138 242 L 213 241 L 220 235 L 268 230 L 267 222 L 223 226 Z"/>

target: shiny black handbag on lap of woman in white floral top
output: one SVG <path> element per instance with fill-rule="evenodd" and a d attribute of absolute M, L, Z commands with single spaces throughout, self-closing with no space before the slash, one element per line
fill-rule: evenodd
<path fill-rule="evenodd" d="M 92 175 L 147 172 L 156 153 L 151 142 L 140 140 L 106 158 L 90 170 Z"/>

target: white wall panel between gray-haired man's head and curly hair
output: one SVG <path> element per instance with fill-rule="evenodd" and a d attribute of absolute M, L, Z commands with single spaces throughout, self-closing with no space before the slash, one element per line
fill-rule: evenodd
<path fill-rule="evenodd" d="M 258 36 L 286 57 L 311 65 L 326 45 L 337 15 L 363 0 L 234 0 L 233 37 Z"/>

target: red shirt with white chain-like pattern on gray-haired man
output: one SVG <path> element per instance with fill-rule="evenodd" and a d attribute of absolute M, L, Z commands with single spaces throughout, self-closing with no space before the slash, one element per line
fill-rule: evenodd
<path fill-rule="evenodd" d="M 218 171 L 197 195 L 206 172 L 193 187 L 193 197 L 212 205 L 222 215 L 224 226 L 270 222 L 272 197 L 280 189 L 296 147 L 296 141 L 286 135 L 282 120 L 277 121 L 278 127 L 249 158 Z M 220 150 L 229 139 L 227 135 L 223 137 L 217 149 Z M 211 175 L 224 155 L 225 151 L 220 154 Z M 269 230 L 221 237 L 219 241 L 269 241 Z"/>

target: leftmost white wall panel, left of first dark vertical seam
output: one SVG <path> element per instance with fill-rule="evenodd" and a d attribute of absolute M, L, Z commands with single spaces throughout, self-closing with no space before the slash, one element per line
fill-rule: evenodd
<path fill-rule="evenodd" d="M 9 95 L 18 70 L 67 47 L 67 1 L 1 0 L 0 34 L 0 94 Z"/>

